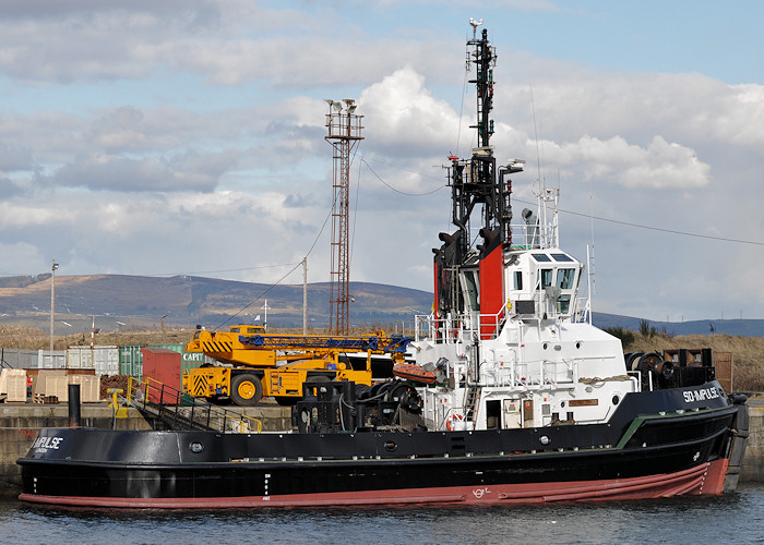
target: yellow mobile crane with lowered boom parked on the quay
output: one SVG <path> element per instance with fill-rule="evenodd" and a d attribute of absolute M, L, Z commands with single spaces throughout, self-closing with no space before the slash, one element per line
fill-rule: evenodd
<path fill-rule="evenodd" d="M 368 337 L 266 334 L 262 326 L 231 326 L 229 331 L 196 329 L 187 352 L 203 352 L 229 365 L 205 365 L 183 374 L 183 389 L 193 397 L 230 398 L 252 405 L 263 396 L 279 404 L 302 398 L 302 383 L 353 380 L 371 386 L 371 355 L 404 361 L 409 338 L 378 331 Z M 366 352 L 366 366 L 354 370 L 342 355 Z"/>

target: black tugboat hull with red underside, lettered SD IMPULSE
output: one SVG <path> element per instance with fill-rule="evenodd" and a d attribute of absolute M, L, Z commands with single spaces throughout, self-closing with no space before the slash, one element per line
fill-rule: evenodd
<path fill-rule="evenodd" d="M 609 424 L 533 429 L 260 435 L 46 429 L 19 461 L 21 497 L 69 505 L 250 507 L 719 494 L 738 407 L 719 397 L 703 408 L 671 411 L 675 398 L 666 393 L 632 396 Z M 645 411 L 647 404 L 653 411 Z"/>

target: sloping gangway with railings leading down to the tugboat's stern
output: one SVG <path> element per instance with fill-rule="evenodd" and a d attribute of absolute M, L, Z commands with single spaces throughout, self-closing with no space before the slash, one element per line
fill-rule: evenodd
<path fill-rule="evenodd" d="M 255 434 L 263 431 L 258 419 L 213 405 L 151 377 L 144 380 L 130 377 L 127 399 L 139 410 L 176 427 Z"/>

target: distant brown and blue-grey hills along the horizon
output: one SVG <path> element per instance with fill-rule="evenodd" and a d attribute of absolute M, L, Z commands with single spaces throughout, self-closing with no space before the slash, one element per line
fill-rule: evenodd
<path fill-rule="evenodd" d="M 429 314 L 432 293 L 371 282 L 350 282 L 350 325 L 396 328 L 410 332 L 416 314 Z M 217 280 L 195 276 L 170 278 L 128 275 L 56 277 L 56 335 L 104 330 L 156 328 L 163 325 L 227 327 L 236 323 L 262 323 L 267 300 L 268 325 L 302 326 L 302 286 Z M 329 325 L 330 284 L 308 286 L 309 327 Z M 258 316 L 260 319 L 258 320 Z M 638 330 L 641 318 L 594 313 L 597 327 Z M 0 278 L 0 324 L 23 324 L 48 331 L 50 275 Z M 764 319 L 649 322 L 668 335 L 726 334 L 764 337 Z M 713 331 L 712 331 L 713 327 Z"/>

